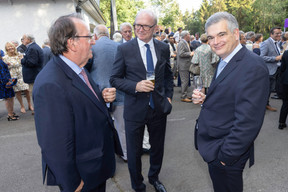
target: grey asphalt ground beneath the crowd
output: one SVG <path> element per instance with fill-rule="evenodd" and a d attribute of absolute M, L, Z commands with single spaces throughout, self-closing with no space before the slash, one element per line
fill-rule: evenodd
<path fill-rule="evenodd" d="M 207 165 L 193 145 L 194 122 L 200 108 L 180 102 L 179 91 L 175 88 L 173 111 L 168 117 L 160 180 L 169 192 L 212 192 Z M 277 128 L 282 102 L 272 99 L 270 102 L 278 111 L 266 112 L 255 143 L 255 165 L 244 171 L 245 192 L 288 192 L 288 129 Z M 15 112 L 20 113 L 18 101 L 15 101 Z M 59 191 L 56 187 L 42 185 L 40 149 L 31 112 L 20 118 L 8 122 L 4 101 L 0 101 L 0 191 Z M 142 157 L 143 175 L 147 192 L 152 192 L 154 190 L 147 181 L 148 157 Z M 108 180 L 107 192 L 124 191 L 132 191 L 127 164 L 117 158 L 116 174 Z"/>

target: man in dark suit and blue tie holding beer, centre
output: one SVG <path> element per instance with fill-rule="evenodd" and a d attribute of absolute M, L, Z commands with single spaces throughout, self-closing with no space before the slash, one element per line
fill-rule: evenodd
<path fill-rule="evenodd" d="M 166 191 L 158 175 L 163 160 L 167 115 L 172 109 L 173 76 L 169 45 L 153 39 L 156 28 L 157 17 L 152 11 L 142 10 L 137 14 L 134 23 L 137 38 L 118 46 L 110 79 L 112 86 L 125 92 L 128 168 L 135 191 L 146 190 L 141 174 L 145 125 L 151 144 L 149 182 L 156 191 Z M 155 86 L 146 80 L 147 71 L 155 72 Z"/>

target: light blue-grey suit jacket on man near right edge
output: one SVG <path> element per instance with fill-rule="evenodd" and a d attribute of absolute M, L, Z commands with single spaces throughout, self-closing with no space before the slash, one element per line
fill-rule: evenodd
<path fill-rule="evenodd" d="M 260 57 L 262 57 L 268 67 L 269 75 L 274 75 L 278 68 L 278 61 L 275 58 L 279 55 L 275 44 L 273 43 L 271 37 L 266 39 L 260 45 Z"/>

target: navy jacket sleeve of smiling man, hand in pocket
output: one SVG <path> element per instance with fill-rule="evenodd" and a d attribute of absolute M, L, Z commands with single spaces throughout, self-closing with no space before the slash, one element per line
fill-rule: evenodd
<path fill-rule="evenodd" d="M 268 94 L 269 75 L 266 66 L 251 66 L 237 86 L 235 120 L 229 134 L 223 138 L 218 153 L 218 159 L 226 165 L 234 164 L 253 145 L 262 127 Z"/>

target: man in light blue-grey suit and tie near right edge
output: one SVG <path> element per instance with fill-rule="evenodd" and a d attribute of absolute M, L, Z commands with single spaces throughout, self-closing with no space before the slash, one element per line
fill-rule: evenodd
<path fill-rule="evenodd" d="M 269 70 L 270 93 L 272 91 L 275 91 L 277 70 L 280 66 L 280 61 L 282 59 L 282 55 L 280 54 L 280 48 L 278 46 L 280 38 L 281 28 L 273 27 L 270 30 L 270 37 L 266 39 L 263 43 L 261 43 L 260 46 L 260 57 L 264 59 Z M 270 111 L 277 111 L 276 108 L 273 108 L 269 105 L 269 99 L 266 105 L 266 109 Z"/>

